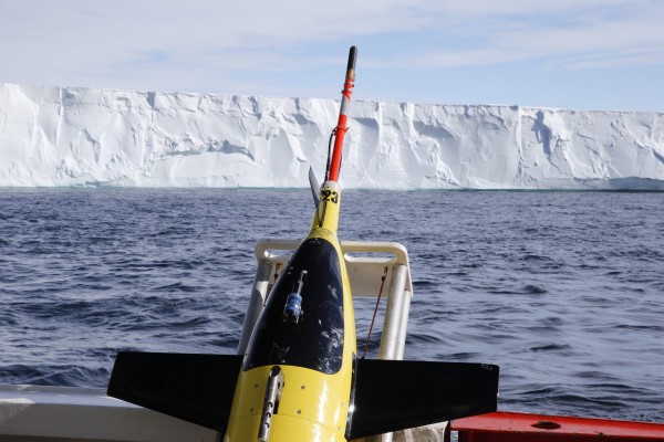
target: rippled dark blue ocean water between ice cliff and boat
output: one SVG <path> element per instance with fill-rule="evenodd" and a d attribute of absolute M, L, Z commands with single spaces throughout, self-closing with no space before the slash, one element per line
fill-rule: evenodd
<path fill-rule="evenodd" d="M 256 241 L 312 211 L 309 190 L 0 190 L 0 382 L 235 352 Z M 664 193 L 346 191 L 339 233 L 408 249 L 406 359 L 499 365 L 501 410 L 664 421 Z"/>

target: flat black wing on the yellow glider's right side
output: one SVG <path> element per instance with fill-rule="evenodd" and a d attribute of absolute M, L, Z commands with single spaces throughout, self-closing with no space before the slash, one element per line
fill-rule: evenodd
<path fill-rule="evenodd" d="M 349 440 L 496 411 L 498 366 L 369 359 L 356 362 Z"/>

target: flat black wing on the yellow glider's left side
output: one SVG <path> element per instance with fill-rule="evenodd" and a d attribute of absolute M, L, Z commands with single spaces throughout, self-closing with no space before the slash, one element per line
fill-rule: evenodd
<path fill-rule="evenodd" d="M 117 354 L 108 396 L 226 431 L 242 356 Z"/>

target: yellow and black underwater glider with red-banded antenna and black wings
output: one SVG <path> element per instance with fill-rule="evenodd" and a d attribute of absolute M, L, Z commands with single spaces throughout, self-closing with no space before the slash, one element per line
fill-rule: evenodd
<path fill-rule="evenodd" d="M 494 365 L 357 357 L 339 172 L 356 49 L 315 211 L 267 297 L 243 355 L 120 352 L 108 396 L 225 434 L 224 441 L 343 441 L 496 410 Z M 331 139 L 332 140 L 332 139 Z"/>

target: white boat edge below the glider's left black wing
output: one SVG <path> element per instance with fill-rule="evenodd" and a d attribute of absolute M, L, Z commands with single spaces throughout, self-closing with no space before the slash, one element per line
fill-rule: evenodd
<path fill-rule="evenodd" d="M 106 396 L 105 389 L 0 385 L 1 442 L 217 441 L 217 432 Z"/>

